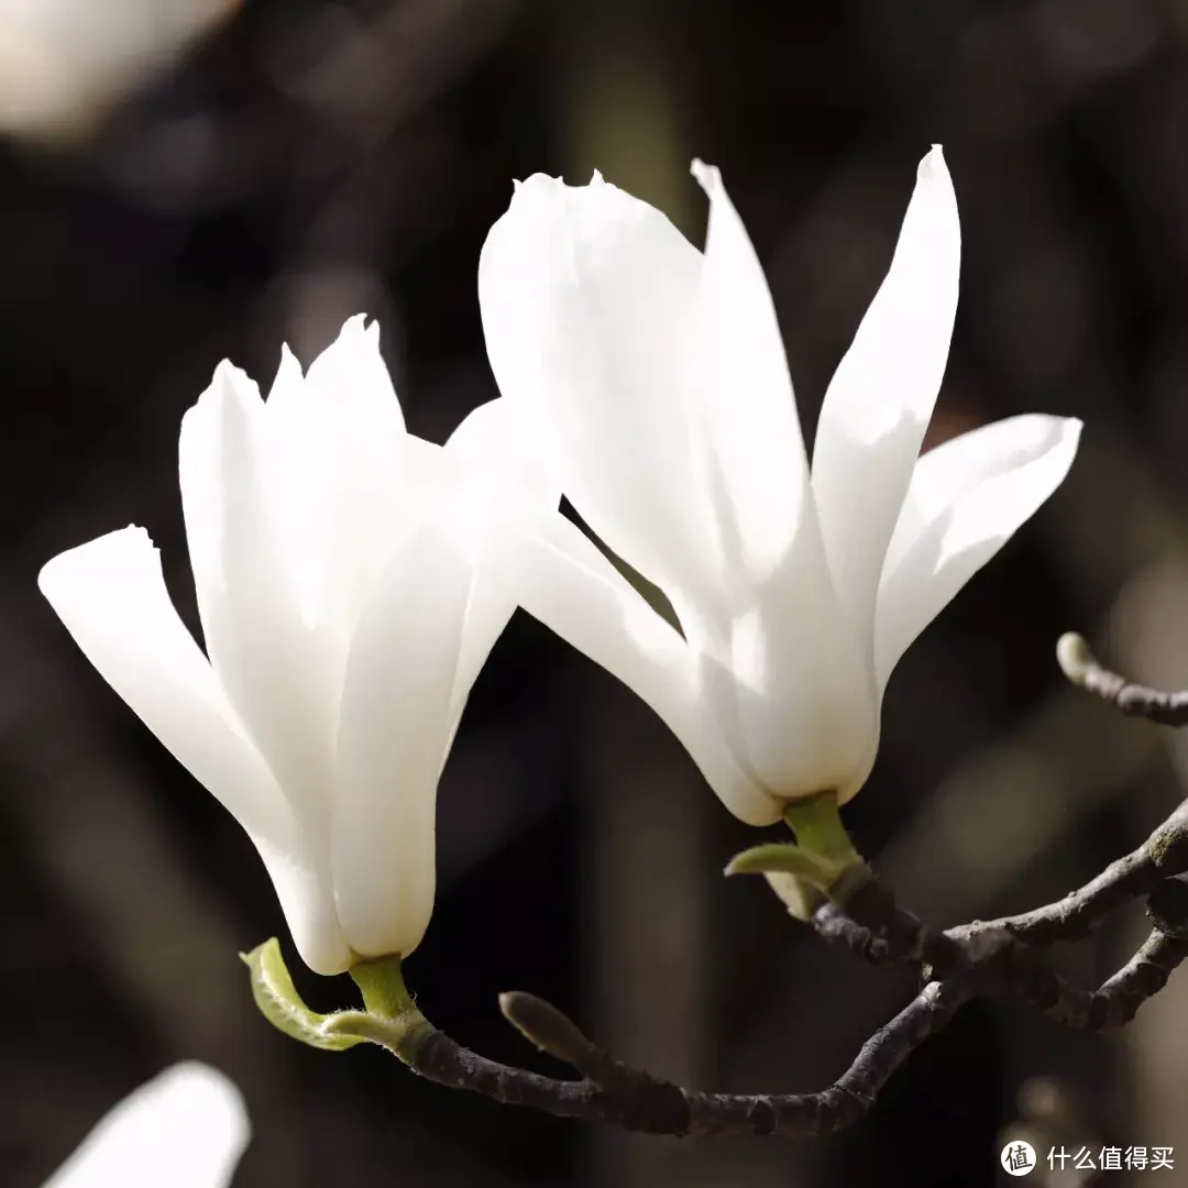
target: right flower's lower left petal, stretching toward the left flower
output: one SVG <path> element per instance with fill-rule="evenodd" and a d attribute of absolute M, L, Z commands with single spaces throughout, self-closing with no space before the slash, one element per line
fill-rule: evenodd
<path fill-rule="evenodd" d="M 693 650 L 588 537 L 555 514 L 510 542 L 504 563 L 520 606 L 643 697 L 735 816 L 779 820 L 779 803 L 740 769 L 709 716 Z"/>

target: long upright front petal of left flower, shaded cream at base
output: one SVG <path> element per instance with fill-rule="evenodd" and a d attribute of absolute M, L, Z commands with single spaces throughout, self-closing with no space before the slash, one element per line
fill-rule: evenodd
<path fill-rule="evenodd" d="M 407 955 L 432 911 L 437 779 L 473 575 L 436 523 L 394 551 L 347 663 L 334 804 L 339 917 L 365 956 Z"/>

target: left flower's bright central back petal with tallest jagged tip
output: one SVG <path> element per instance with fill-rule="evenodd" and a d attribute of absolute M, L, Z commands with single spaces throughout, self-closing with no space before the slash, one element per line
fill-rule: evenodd
<path fill-rule="evenodd" d="M 305 620 L 334 636 L 341 669 L 387 543 L 421 508 L 405 473 L 404 417 L 379 328 L 352 318 L 304 380 L 297 371 L 286 354 L 265 432 Z"/>

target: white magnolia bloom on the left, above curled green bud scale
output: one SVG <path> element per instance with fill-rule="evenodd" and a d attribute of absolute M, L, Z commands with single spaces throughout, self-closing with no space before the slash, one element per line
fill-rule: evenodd
<path fill-rule="evenodd" d="M 55 557 L 42 592 L 108 683 L 238 819 L 318 973 L 407 955 L 434 902 L 437 779 L 514 608 L 488 557 L 556 507 L 506 405 L 447 446 L 405 432 L 378 328 L 349 321 L 267 403 L 222 364 L 182 422 L 203 656 L 128 527 Z"/>

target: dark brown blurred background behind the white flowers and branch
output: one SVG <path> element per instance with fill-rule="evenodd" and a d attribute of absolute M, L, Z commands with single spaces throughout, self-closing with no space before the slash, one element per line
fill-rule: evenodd
<path fill-rule="evenodd" d="M 39 1184 L 118 1098 L 198 1057 L 247 1097 L 244 1188 L 988 1184 L 1020 1120 L 1175 1146 L 1155 1175 L 1188 1183 L 1183 972 L 1108 1037 L 971 1005 L 827 1142 L 634 1138 L 286 1041 L 236 959 L 272 934 L 293 959 L 254 852 L 34 584 L 135 522 L 196 627 L 177 430 L 223 356 L 267 380 L 282 341 L 309 362 L 367 311 L 410 428 L 444 440 L 495 394 L 475 267 L 538 170 L 596 166 L 697 239 L 688 163 L 719 164 L 810 430 L 943 141 L 965 258 L 933 441 L 1023 411 L 1087 429 L 901 664 L 846 816 L 936 924 L 1055 898 L 1188 776 L 1188 735 L 1062 687 L 1053 658 L 1075 627 L 1188 683 L 1188 5 L 0 0 L 0 1182 Z M 497 1010 L 524 988 L 655 1073 L 820 1088 L 912 986 L 723 880 L 754 840 L 642 703 L 518 615 L 443 779 L 410 981 L 494 1057 L 549 1067 Z M 1063 969 L 1097 984 L 1142 935 L 1123 915 Z M 352 1000 L 303 972 L 315 1005 Z"/>

